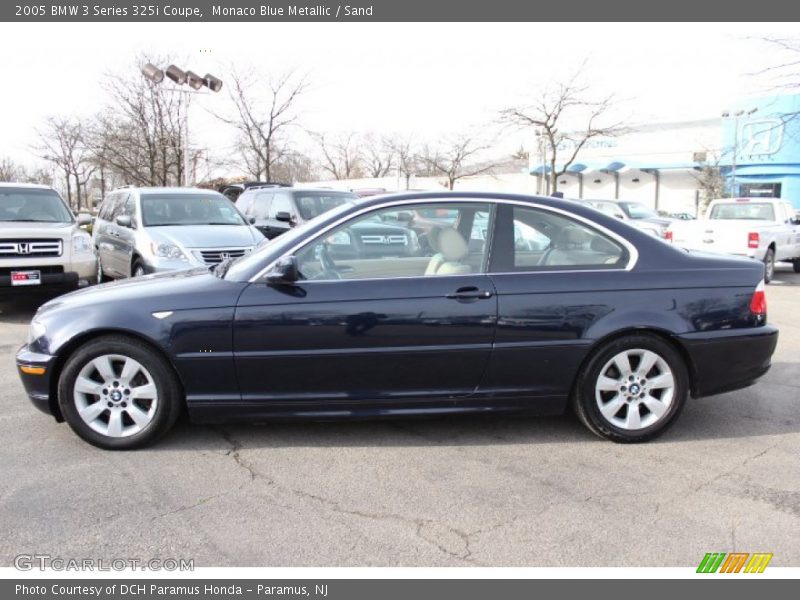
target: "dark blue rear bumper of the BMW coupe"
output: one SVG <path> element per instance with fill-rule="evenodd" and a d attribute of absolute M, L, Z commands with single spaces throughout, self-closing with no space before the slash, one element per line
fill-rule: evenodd
<path fill-rule="evenodd" d="M 763 325 L 678 336 L 692 364 L 692 396 L 738 390 L 758 380 L 772 364 L 778 329 Z"/>

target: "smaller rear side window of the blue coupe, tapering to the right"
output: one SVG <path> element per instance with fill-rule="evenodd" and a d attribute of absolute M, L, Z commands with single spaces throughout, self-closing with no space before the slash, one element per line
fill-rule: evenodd
<path fill-rule="evenodd" d="M 579 221 L 522 206 L 513 206 L 507 216 L 498 220 L 500 268 L 493 264 L 493 270 L 608 269 L 627 262 L 628 253 L 619 242 Z"/>

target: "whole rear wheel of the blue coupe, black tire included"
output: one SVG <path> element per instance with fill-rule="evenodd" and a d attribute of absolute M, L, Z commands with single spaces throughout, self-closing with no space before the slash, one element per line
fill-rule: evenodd
<path fill-rule="evenodd" d="M 625 364 L 621 356 L 628 359 L 628 373 L 617 367 Z M 652 366 L 640 373 L 645 358 Z M 610 341 L 589 356 L 575 383 L 572 405 L 596 435 L 635 443 L 664 433 L 678 418 L 688 394 L 689 377 L 678 351 L 655 335 L 636 334 Z"/>

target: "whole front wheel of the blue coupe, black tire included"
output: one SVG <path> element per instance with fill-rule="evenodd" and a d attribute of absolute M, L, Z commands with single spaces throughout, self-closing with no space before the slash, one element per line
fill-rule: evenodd
<path fill-rule="evenodd" d="M 75 433 L 106 450 L 154 442 L 183 406 L 177 377 L 164 358 L 119 335 L 96 338 L 73 352 L 58 380 L 58 403 Z"/>

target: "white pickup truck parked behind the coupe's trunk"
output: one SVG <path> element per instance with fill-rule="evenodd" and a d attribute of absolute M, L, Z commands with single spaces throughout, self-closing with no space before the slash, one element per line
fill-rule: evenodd
<path fill-rule="evenodd" d="M 675 221 L 665 237 L 690 250 L 760 260 L 767 283 L 775 273 L 776 261 L 791 262 L 795 273 L 800 273 L 800 221 L 792 205 L 779 198 L 712 200 L 705 218 Z"/>

